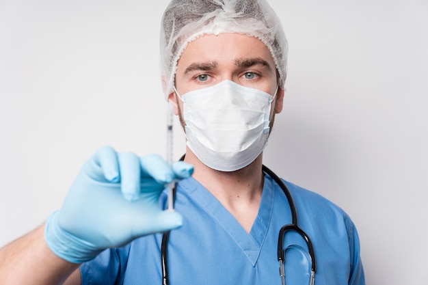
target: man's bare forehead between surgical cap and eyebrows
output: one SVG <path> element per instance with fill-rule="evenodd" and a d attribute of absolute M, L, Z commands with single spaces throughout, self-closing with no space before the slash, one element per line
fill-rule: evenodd
<path fill-rule="evenodd" d="M 240 33 L 207 34 L 189 42 L 178 59 L 177 67 L 192 62 L 235 62 L 245 58 L 261 58 L 275 66 L 267 46 L 258 38 Z"/>

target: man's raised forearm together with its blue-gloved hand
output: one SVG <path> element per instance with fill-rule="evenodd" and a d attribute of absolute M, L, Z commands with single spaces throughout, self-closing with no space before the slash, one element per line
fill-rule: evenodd
<path fill-rule="evenodd" d="M 81 262 L 139 236 L 178 228 L 180 214 L 162 211 L 159 195 L 165 183 L 192 172 L 187 163 L 171 167 L 157 155 L 139 158 L 101 148 L 83 165 L 62 208 L 45 226 L 1 249 L 0 280 L 62 284 L 74 271 L 66 284 L 80 284 Z"/>

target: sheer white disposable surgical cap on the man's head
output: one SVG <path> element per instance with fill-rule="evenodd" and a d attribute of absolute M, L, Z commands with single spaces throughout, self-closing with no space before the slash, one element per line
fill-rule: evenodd
<path fill-rule="evenodd" d="M 205 34 L 241 33 L 261 40 L 271 52 L 284 88 L 288 44 L 280 19 L 265 0 L 172 0 L 160 37 L 163 92 L 173 92 L 176 66 L 192 40 Z"/>

